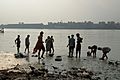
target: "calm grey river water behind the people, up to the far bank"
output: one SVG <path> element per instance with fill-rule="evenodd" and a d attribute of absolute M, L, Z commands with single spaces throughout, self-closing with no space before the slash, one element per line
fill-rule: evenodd
<path fill-rule="evenodd" d="M 97 45 L 99 47 L 110 47 L 111 52 L 108 54 L 110 59 L 120 60 L 120 31 L 119 30 L 80 30 L 80 29 L 5 29 L 5 33 L 0 33 L 0 51 L 16 53 L 14 40 L 17 35 L 21 36 L 20 52 L 24 52 L 24 41 L 27 34 L 30 35 L 30 51 L 32 52 L 40 31 L 44 31 L 45 40 L 47 36 L 54 37 L 55 54 L 68 55 L 68 35 L 80 33 L 83 38 L 82 57 L 86 56 L 88 46 Z M 74 36 L 76 39 L 76 36 Z M 101 57 L 101 52 L 97 56 Z"/>

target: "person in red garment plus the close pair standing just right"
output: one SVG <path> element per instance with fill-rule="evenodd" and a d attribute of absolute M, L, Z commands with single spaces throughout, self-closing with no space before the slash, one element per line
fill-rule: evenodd
<path fill-rule="evenodd" d="M 45 53 L 45 47 L 44 47 L 44 44 L 43 44 L 44 43 L 44 41 L 43 41 L 43 34 L 44 34 L 44 32 L 41 31 L 40 35 L 38 36 L 38 41 L 37 41 L 37 43 L 35 45 L 35 48 L 33 50 L 33 53 L 36 53 L 37 50 L 38 50 L 38 59 L 41 59 L 41 58 L 44 59 L 43 55 Z M 47 39 L 45 40 L 45 43 L 46 43 L 46 53 L 49 52 L 49 54 L 51 54 L 51 50 L 52 50 L 52 54 L 54 54 L 53 42 L 54 42 L 53 36 L 51 36 L 51 37 L 48 36 Z M 41 50 L 42 50 L 42 55 L 40 57 Z"/>

